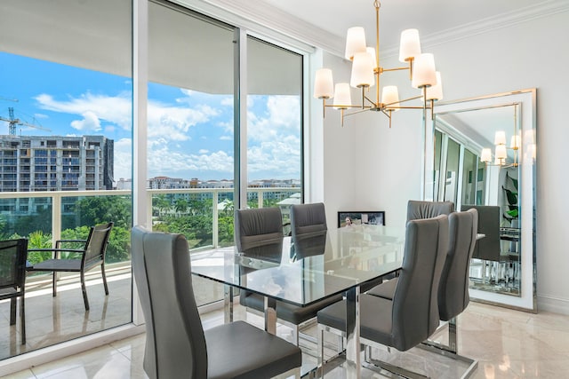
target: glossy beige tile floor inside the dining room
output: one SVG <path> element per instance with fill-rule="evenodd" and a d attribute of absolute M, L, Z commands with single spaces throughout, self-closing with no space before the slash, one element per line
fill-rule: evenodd
<path fill-rule="evenodd" d="M 204 315 L 204 328 L 221 322 L 221 316 L 221 312 Z M 246 317 L 252 322 L 259 321 L 251 314 Z M 471 376 L 476 379 L 569 377 L 568 321 L 569 316 L 549 312 L 531 314 L 472 302 L 458 320 L 459 351 L 478 359 L 477 371 Z M 290 337 L 285 327 L 279 327 L 277 333 Z M 438 334 L 437 339 L 444 340 L 444 336 L 445 331 Z M 142 370 L 144 337 L 142 334 L 109 343 L 29 368 L 10 378 L 146 378 Z M 386 351 L 379 353 L 387 354 Z M 404 357 L 397 357 L 397 352 L 389 355 L 423 369 L 433 378 L 461 376 L 460 365 L 426 351 L 412 349 L 402 354 Z M 305 354 L 305 359 L 314 358 Z M 342 367 L 337 367 L 326 377 L 342 378 L 344 374 Z M 384 376 L 364 369 L 363 377 Z"/>

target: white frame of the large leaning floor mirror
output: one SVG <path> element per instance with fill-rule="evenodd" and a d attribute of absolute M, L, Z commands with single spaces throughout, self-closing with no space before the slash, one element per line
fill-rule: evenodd
<path fill-rule="evenodd" d="M 476 98 L 460 99 L 437 104 L 432 116 L 432 122 L 425 123 L 425 144 L 423 146 L 424 171 L 421 192 L 423 199 L 433 201 L 435 170 L 435 125 L 437 114 L 449 112 L 464 112 L 487 107 L 496 107 L 517 103 L 521 116 L 518 119 L 522 138 L 526 133 L 533 136 L 534 150 L 524 148 L 530 141 L 522 141 L 519 170 L 519 209 L 521 220 L 521 267 L 520 267 L 520 296 L 511 296 L 504 292 L 493 292 L 482 289 L 469 288 L 472 300 L 497 304 L 526 312 L 537 312 L 536 295 L 536 167 L 537 154 L 537 90 L 526 89 L 486 95 Z M 530 154 L 528 154 L 530 153 Z M 459 204 L 457 204 L 458 207 Z"/>

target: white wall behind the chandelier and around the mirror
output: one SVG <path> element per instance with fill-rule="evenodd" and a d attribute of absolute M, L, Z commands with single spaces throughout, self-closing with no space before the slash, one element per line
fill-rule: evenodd
<path fill-rule="evenodd" d="M 537 88 L 537 294 L 538 309 L 569 314 L 569 179 L 565 159 L 569 142 L 569 12 L 490 30 L 464 39 L 423 45 L 442 72 L 445 99 Z M 382 62 L 398 66 L 393 58 Z M 334 72 L 334 74 L 336 74 Z M 388 76 L 384 83 L 388 83 Z M 397 74 L 395 74 L 397 76 Z M 349 76 L 346 75 L 346 78 Z M 390 76 L 389 76 L 390 77 Z M 397 79 L 400 97 L 409 83 Z M 331 112 L 332 113 L 332 112 Z M 344 129 L 325 120 L 325 202 L 334 209 L 386 210 L 389 225 L 405 220 L 408 199 L 421 197 L 421 112 L 401 111 L 389 130 L 381 114 L 352 116 Z M 349 142 L 352 142 L 349 146 Z M 351 162 L 338 154 L 351 151 Z M 350 178 L 353 186 L 333 186 Z"/>

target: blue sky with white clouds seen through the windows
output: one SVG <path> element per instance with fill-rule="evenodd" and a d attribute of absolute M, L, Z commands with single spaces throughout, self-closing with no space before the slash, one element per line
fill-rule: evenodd
<path fill-rule="evenodd" d="M 7 99 L 18 99 L 17 102 Z M 248 97 L 248 176 L 300 179 L 300 102 Z M 132 80 L 0 52 L 0 116 L 18 135 L 103 135 L 115 140 L 115 179 L 131 178 Z M 8 123 L 0 122 L 0 134 Z M 233 178 L 233 98 L 148 86 L 148 177 Z"/>

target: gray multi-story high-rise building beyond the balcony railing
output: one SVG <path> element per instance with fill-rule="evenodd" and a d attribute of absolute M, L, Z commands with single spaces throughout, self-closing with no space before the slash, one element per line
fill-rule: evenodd
<path fill-rule="evenodd" d="M 0 192 L 113 189 L 113 140 L 0 136 Z"/>

